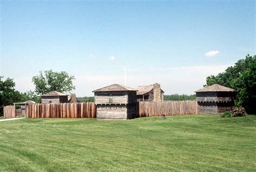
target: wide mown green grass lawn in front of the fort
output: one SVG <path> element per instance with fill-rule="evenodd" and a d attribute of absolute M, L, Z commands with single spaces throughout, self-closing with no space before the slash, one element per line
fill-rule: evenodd
<path fill-rule="evenodd" d="M 256 115 L 0 122 L 0 171 L 255 171 Z"/>

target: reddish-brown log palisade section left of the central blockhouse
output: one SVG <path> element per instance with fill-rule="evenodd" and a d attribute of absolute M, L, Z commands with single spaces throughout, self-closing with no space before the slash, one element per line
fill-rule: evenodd
<path fill-rule="evenodd" d="M 26 118 L 96 118 L 96 107 L 94 102 L 30 104 Z"/>

